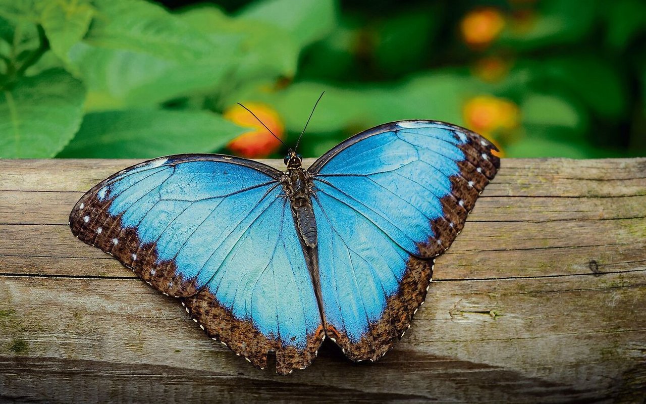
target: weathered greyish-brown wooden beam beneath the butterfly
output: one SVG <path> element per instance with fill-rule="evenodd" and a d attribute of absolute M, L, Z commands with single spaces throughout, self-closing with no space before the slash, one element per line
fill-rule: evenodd
<path fill-rule="evenodd" d="M 74 202 L 133 163 L 0 160 L 0 401 L 643 403 L 646 158 L 503 160 L 402 341 L 291 376 L 72 236 Z"/>

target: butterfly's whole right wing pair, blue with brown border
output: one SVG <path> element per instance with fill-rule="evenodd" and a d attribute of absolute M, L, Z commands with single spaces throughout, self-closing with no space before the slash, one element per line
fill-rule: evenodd
<path fill-rule="evenodd" d="M 357 134 L 309 169 L 326 334 L 376 360 L 410 326 L 433 257 L 450 246 L 499 167 L 467 129 L 402 121 Z"/>

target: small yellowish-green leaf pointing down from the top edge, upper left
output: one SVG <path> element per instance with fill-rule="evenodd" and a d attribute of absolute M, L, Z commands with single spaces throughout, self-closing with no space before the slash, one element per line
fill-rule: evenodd
<path fill-rule="evenodd" d="M 70 48 L 83 39 L 93 15 L 94 8 L 82 0 L 52 1 L 43 10 L 40 22 L 56 56 L 68 61 Z"/>

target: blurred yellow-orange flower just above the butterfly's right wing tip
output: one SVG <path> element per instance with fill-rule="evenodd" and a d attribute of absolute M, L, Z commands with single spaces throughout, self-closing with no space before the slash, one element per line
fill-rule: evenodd
<path fill-rule="evenodd" d="M 466 126 L 488 138 L 498 149 L 501 147 L 495 142 L 494 134 L 509 133 L 520 123 L 520 111 L 516 103 L 489 95 L 468 100 L 464 104 L 463 114 Z"/>

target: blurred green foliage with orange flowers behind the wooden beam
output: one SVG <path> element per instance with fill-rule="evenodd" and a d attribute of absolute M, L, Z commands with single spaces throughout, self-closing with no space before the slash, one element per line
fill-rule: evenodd
<path fill-rule="evenodd" d="M 642 0 L 0 0 L 0 157 L 320 156 L 401 119 L 646 154 Z"/>

